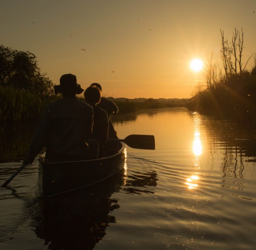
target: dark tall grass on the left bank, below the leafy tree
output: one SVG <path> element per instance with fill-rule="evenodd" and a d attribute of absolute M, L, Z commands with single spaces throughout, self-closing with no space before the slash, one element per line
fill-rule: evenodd
<path fill-rule="evenodd" d="M 38 122 L 45 106 L 58 98 L 0 86 L 0 123 L 8 125 Z"/>

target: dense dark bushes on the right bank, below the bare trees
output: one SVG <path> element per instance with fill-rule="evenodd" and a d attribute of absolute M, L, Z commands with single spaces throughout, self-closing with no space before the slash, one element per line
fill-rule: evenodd
<path fill-rule="evenodd" d="M 231 74 L 215 88 L 194 95 L 187 107 L 193 111 L 243 123 L 256 122 L 256 75 L 251 72 Z"/>

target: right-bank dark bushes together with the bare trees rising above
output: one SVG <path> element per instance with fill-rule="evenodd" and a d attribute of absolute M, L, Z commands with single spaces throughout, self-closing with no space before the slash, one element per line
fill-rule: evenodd
<path fill-rule="evenodd" d="M 221 30 L 223 67 L 220 68 L 210 55 L 205 69 L 205 86 L 197 86 L 187 104 L 188 109 L 219 119 L 256 122 L 256 57 L 252 54 L 243 63 L 243 34 L 242 29 L 241 32 L 235 29 L 229 43 Z M 252 58 L 252 69 L 246 70 Z"/>

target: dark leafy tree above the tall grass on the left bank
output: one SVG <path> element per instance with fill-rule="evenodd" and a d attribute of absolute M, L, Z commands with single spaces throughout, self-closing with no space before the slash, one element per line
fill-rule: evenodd
<path fill-rule="evenodd" d="M 38 68 L 36 56 L 29 51 L 11 50 L 0 45 L 0 85 L 52 94 L 53 82 Z"/>

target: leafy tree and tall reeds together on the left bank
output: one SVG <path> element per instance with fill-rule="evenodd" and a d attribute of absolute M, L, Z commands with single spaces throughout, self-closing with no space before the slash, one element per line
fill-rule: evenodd
<path fill-rule="evenodd" d="M 29 51 L 0 45 L 0 125 L 37 122 L 45 105 L 56 99 L 53 82 Z"/>

